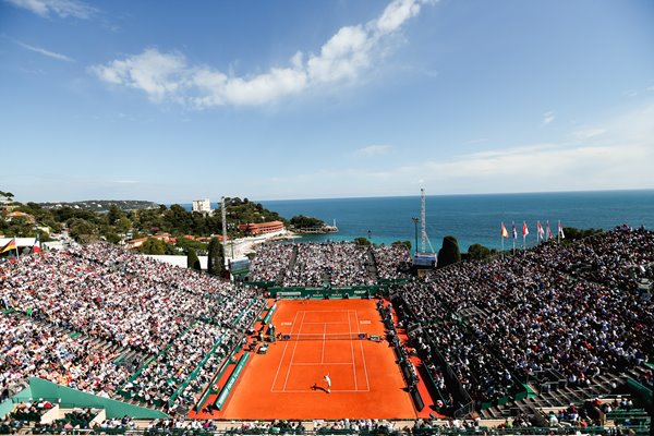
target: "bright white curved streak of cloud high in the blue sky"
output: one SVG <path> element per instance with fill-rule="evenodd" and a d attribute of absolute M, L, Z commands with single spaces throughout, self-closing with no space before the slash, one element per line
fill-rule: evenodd
<path fill-rule="evenodd" d="M 90 66 L 89 71 L 104 82 L 141 89 L 156 102 L 171 100 L 196 109 L 266 105 L 310 87 L 356 80 L 380 58 L 385 37 L 417 15 L 425 2 L 393 0 L 379 17 L 338 29 L 317 55 L 299 51 L 288 66 L 256 75 L 235 76 L 192 65 L 181 53 L 156 48 Z"/>

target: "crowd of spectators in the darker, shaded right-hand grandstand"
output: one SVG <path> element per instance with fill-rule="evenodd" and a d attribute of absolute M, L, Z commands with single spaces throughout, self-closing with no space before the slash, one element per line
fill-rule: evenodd
<path fill-rule="evenodd" d="M 633 271 L 646 274 L 653 261 L 653 232 L 614 231 L 457 264 L 401 287 L 396 299 L 421 326 L 413 340 L 422 355 L 433 360 L 435 347 L 479 403 L 544 368 L 583 387 L 651 361 L 654 303 Z"/>

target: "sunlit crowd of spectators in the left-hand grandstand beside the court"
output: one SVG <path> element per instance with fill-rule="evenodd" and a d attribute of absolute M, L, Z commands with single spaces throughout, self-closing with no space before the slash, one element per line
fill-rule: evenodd
<path fill-rule="evenodd" d="M 152 364 L 131 385 L 172 411 L 209 378 L 201 372 L 177 392 L 186 377 L 214 346 L 225 356 L 264 304 L 254 289 L 106 243 L 5 263 L 0 292 L 15 311 L 0 317 L 2 391 L 38 376 L 113 397 L 130 376 L 118 352 L 134 350 Z"/>

